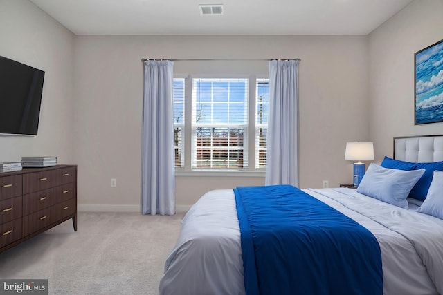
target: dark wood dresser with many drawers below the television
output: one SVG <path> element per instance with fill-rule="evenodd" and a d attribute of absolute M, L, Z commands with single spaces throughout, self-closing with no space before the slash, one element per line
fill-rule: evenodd
<path fill-rule="evenodd" d="M 72 218 L 77 231 L 77 166 L 0 173 L 0 252 Z"/>

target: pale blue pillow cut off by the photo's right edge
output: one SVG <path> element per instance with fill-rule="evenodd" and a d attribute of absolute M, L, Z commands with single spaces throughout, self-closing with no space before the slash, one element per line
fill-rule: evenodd
<path fill-rule="evenodd" d="M 443 219 L 443 171 L 434 171 L 426 199 L 417 212 Z"/>

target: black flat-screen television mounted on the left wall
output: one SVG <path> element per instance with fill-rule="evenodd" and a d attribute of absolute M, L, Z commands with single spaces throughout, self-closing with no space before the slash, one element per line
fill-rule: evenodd
<path fill-rule="evenodd" d="M 37 135 L 44 71 L 0 56 L 0 133 Z"/>

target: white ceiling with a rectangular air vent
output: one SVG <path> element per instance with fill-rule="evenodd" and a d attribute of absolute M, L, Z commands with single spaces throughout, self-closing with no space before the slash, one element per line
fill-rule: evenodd
<path fill-rule="evenodd" d="M 76 35 L 367 35 L 412 0 L 30 1 Z"/>

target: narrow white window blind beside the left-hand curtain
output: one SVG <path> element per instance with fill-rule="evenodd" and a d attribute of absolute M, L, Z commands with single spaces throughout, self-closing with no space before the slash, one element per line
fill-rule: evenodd
<path fill-rule="evenodd" d="M 185 79 L 174 79 L 174 153 L 175 168 L 184 167 Z"/>

